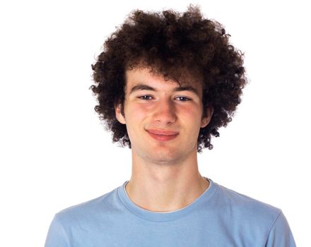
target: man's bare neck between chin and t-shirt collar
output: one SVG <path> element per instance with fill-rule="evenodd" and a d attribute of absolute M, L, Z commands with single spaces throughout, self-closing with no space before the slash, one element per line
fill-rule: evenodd
<path fill-rule="evenodd" d="M 199 174 L 196 154 L 174 164 L 155 164 L 133 155 L 131 179 L 125 189 L 133 203 L 153 212 L 186 207 L 209 188 Z"/>

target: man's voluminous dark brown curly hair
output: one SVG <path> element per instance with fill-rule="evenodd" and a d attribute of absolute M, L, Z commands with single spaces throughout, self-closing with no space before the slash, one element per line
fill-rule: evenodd
<path fill-rule="evenodd" d="M 131 11 L 121 27 L 107 38 L 103 52 L 92 64 L 95 85 L 90 89 L 98 100 L 95 112 L 112 131 L 112 141 L 131 148 L 127 128 L 115 116 L 115 105 L 121 103 L 124 115 L 125 71 L 146 66 L 165 80 L 179 82 L 184 69 L 203 78 L 203 115 L 213 107 L 209 124 L 200 128 L 197 152 L 213 148 L 211 135 L 232 121 L 247 83 L 244 54 L 228 42 L 223 25 L 204 18 L 199 7 L 187 11 Z"/>

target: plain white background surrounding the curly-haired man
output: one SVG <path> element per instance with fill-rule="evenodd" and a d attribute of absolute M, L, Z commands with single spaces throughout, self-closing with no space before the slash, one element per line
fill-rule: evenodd
<path fill-rule="evenodd" d="M 307 2 L 307 1 L 305 1 Z M 310 240 L 310 14 L 303 1 L 194 1 L 245 52 L 250 84 L 199 170 L 283 210 Z M 59 210 L 131 175 L 95 114 L 90 64 L 135 8 L 189 1 L 1 1 L 0 246 L 43 246 Z"/>

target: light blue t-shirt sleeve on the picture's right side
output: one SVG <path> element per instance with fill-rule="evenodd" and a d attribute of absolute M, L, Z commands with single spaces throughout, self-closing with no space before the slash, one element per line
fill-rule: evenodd
<path fill-rule="evenodd" d="M 291 228 L 282 210 L 269 231 L 265 247 L 296 247 Z"/>

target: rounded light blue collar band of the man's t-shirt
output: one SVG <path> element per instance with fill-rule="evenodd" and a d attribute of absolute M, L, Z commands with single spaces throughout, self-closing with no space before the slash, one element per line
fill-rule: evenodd
<path fill-rule="evenodd" d="M 204 193 L 202 193 L 198 198 L 196 198 L 196 200 L 194 200 L 192 203 L 190 203 L 186 207 L 182 207 L 179 210 L 174 210 L 174 211 L 169 211 L 169 212 L 153 212 L 150 210 L 143 209 L 142 207 L 139 207 L 134 202 L 132 202 L 131 199 L 129 198 L 129 195 L 127 195 L 127 191 L 125 190 L 125 185 L 129 181 L 125 181 L 122 186 L 119 186 L 117 193 L 123 205 L 127 207 L 127 209 L 134 215 L 137 215 L 143 219 L 148 219 L 151 221 L 165 222 L 165 221 L 178 219 L 196 210 L 196 208 L 199 207 L 199 205 L 209 203 L 209 200 L 211 199 L 213 194 L 216 192 L 216 189 L 218 187 L 216 186 L 216 183 L 213 182 L 213 180 L 208 179 L 205 176 L 204 176 L 204 179 L 209 180 L 209 187 L 206 188 Z"/>

